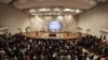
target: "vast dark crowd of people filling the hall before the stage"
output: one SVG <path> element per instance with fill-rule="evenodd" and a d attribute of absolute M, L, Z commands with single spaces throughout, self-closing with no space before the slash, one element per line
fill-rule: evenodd
<path fill-rule="evenodd" d="M 100 39 L 35 39 L 22 34 L 0 35 L 0 60 L 102 60 L 87 49 L 108 56 L 108 47 L 99 47 Z"/>

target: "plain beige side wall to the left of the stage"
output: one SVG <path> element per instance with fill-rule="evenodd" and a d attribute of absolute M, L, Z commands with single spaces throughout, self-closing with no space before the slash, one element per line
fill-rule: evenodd
<path fill-rule="evenodd" d="M 9 27 L 13 34 L 18 32 L 17 28 L 25 32 L 25 28 L 29 26 L 29 16 L 11 5 L 0 3 L 0 26 Z"/>

